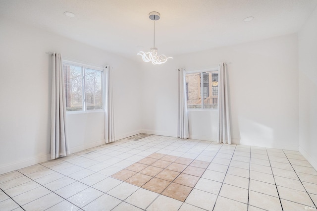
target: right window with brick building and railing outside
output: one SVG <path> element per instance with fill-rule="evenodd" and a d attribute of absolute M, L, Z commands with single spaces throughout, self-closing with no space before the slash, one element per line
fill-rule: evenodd
<path fill-rule="evenodd" d="M 218 71 L 210 70 L 187 73 L 186 95 L 187 108 L 217 108 Z"/>

